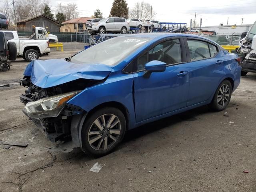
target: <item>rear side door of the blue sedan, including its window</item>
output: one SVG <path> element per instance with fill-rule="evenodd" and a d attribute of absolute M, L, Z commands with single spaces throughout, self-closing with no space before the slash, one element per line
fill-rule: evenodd
<path fill-rule="evenodd" d="M 219 48 L 211 42 L 198 38 L 185 42 L 190 60 L 188 106 L 191 106 L 211 98 L 224 75 L 224 63 Z"/>

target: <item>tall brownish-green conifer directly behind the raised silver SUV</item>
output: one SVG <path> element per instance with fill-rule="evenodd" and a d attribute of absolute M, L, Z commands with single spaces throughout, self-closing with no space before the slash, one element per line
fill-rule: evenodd
<path fill-rule="evenodd" d="M 126 0 L 114 0 L 110 10 L 110 16 L 128 18 L 128 12 L 129 8 Z"/>

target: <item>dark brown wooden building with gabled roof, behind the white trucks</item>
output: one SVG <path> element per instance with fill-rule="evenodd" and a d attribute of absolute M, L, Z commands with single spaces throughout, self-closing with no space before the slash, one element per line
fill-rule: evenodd
<path fill-rule="evenodd" d="M 32 26 L 44 27 L 48 32 L 59 32 L 60 23 L 44 15 L 29 17 L 17 22 L 17 31 L 32 31 Z"/>

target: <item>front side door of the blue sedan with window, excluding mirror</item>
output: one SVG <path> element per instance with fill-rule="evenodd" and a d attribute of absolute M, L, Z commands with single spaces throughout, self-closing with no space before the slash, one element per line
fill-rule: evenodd
<path fill-rule="evenodd" d="M 166 70 L 146 72 L 144 66 L 152 60 L 165 62 Z M 186 107 L 189 64 L 183 60 L 179 39 L 161 42 L 137 59 L 137 72 L 134 73 L 137 122 Z"/>

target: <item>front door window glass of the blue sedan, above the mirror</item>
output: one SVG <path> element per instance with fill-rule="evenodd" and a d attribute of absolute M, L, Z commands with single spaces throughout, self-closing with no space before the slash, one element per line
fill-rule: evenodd
<path fill-rule="evenodd" d="M 149 62 L 158 60 L 166 64 L 176 64 L 181 61 L 180 40 L 172 39 L 164 41 L 148 52 Z"/>

